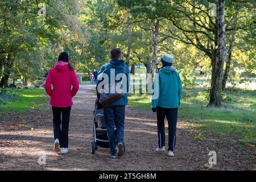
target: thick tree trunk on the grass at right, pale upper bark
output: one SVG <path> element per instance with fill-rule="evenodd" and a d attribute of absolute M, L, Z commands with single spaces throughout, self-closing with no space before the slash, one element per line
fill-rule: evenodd
<path fill-rule="evenodd" d="M 210 101 L 208 107 L 221 107 L 221 91 L 223 67 L 225 61 L 225 0 L 218 1 L 218 30 L 217 30 L 217 49 L 212 57 L 212 82 L 210 85 Z"/>

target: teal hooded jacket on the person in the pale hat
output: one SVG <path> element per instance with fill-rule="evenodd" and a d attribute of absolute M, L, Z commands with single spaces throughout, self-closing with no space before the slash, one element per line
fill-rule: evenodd
<path fill-rule="evenodd" d="M 159 80 L 159 84 L 157 84 L 157 80 Z M 175 71 L 174 67 L 164 67 L 155 77 L 151 107 L 179 107 L 181 92 L 182 86 L 179 73 Z"/>

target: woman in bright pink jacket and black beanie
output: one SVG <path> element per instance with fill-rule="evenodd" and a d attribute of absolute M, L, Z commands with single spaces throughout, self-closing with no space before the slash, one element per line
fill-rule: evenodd
<path fill-rule="evenodd" d="M 53 149 L 63 154 L 68 152 L 68 126 L 73 105 L 72 97 L 79 90 L 76 72 L 68 61 L 68 53 L 61 52 L 55 68 L 50 69 L 44 85 L 47 94 L 51 97 L 50 105 L 53 111 L 55 139 Z"/>

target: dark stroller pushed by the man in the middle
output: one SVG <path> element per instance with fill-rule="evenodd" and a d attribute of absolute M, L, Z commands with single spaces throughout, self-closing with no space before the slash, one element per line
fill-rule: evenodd
<path fill-rule="evenodd" d="M 95 154 L 98 147 L 109 148 L 109 138 L 105 127 L 103 106 L 98 102 L 98 98 L 95 101 L 93 116 L 94 123 L 91 153 Z"/>

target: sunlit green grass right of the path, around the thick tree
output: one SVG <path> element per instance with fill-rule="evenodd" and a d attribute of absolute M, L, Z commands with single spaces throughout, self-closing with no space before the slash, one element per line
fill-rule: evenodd
<path fill-rule="evenodd" d="M 256 94 L 255 90 L 228 89 L 223 97 L 226 106 L 208 108 L 208 92 L 204 89 L 183 89 L 179 118 L 200 126 L 203 132 L 232 135 L 241 142 L 256 142 Z M 148 96 L 130 96 L 129 105 L 150 110 Z"/>

